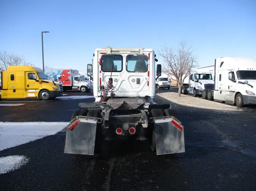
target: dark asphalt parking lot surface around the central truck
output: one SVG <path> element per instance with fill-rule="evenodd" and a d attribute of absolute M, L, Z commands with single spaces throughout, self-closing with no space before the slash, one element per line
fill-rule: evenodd
<path fill-rule="evenodd" d="M 175 88 L 160 91 L 175 91 Z M 172 104 L 184 125 L 185 153 L 156 156 L 146 143 L 130 141 L 102 143 L 104 151 L 101 154 L 76 157 L 64 154 L 65 131 L 61 129 L 80 102 L 93 102 L 94 99 L 92 92 L 65 96 L 73 97 L 50 101 L 1 101 L 24 105 L 0 107 L 0 122 L 22 122 L 20 124 L 29 128 L 25 131 L 27 134 L 17 139 L 8 132 L 15 135 L 20 132 L 19 123 L 6 123 L 16 125 L 14 131 L 8 130 L 12 126 L 7 128 L 0 124 L 0 143 L 7 144 L 11 139 L 22 142 L 20 139 L 25 136 L 32 137 L 31 142 L 0 149 L 1 190 L 223 191 L 256 188 L 256 117 L 253 109 L 226 112 Z M 170 103 L 160 97 L 154 102 Z M 52 126 L 57 126 L 50 122 L 58 122 L 56 133 L 47 132 L 42 136 L 42 129 L 53 131 Z M 45 128 L 41 127 L 39 132 L 40 124 Z M 5 136 L 9 136 L 9 140 L 1 142 Z M 24 157 L 19 158 L 22 160 L 19 164 L 14 163 L 17 156 Z M 14 164 L 8 172 L 1 171 L 1 165 L 6 165 L 3 161 Z"/>

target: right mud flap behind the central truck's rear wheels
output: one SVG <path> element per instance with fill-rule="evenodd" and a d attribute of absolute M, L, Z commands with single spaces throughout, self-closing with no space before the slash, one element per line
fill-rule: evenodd
<path fill-rule="evenodd" d="M 168 117 L 154 122 L 157 155 L 185 152 L 184 128 L 179 120 Z"/>

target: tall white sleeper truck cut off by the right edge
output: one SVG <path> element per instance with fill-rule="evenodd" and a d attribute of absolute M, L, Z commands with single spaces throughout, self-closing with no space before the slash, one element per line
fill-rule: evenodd
<path fill-rule="evenodd" d="M 208 96 L 238 107 L 256 104 L 256 62 L 247 57 L 215 59 L 215 86 Z M 208 98 L 209 99 L 209 98 Z"/>

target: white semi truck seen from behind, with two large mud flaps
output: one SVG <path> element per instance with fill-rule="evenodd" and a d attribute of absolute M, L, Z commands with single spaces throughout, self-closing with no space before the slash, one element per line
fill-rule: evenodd
<path fill-rule="evenodd" d="M 185 152 L 184 128 L 170 104 L 155 104 L 155 52 L 144 48 L 97 48 L 94 103 L 79 103 L 66 130 L 64 152 L 93 155 L 102 141 L 137 139 L 157 154 Z M 104 143 L 105 144 L 105 143 Z"/>

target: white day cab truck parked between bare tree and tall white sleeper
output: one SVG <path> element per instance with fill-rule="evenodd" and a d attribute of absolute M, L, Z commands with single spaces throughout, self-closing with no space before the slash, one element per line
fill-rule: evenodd
<path fill-rule="evenodd" d="M 210 72 L 195 72 L 184 80 L 182 94 L 202 95 L 206 99 L 207 90 L 214 89 L 214 80 Z"/>

